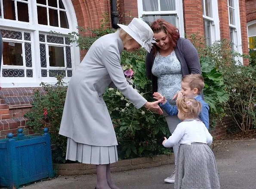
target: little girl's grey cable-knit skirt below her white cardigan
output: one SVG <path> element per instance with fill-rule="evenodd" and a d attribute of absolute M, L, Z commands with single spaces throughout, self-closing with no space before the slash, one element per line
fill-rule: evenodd
<path fill-rule="evenodd" d="M 215 157 L 207 144 L 179 146 L 174 189 L 220 189 Z"/>

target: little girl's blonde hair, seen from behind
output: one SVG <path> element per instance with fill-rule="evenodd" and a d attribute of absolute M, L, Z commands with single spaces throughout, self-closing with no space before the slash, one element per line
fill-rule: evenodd
<path fill-rule="evenodd" d="M 196 119 L 201 111 L 201 103 L 194 98 L 181 98 L 177 102 L 178 110 L 185 114 L 186 118 Z"/>

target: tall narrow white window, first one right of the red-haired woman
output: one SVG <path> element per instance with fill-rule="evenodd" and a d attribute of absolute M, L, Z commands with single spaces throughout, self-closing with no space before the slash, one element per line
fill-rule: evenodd
<path fill-rule="evenodd" d="M 204 37 L 206 38 L 206 45 L 211 45 L 214 41 L 220 39 L 218 1 L 202 0 L 202 4 Z"/>

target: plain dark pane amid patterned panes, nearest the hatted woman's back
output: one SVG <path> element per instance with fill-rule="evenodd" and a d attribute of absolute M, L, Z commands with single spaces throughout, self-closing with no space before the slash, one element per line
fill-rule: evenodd
<path fill-rule="evenodd" d="M 65 67 L 64 47 L 49 46 L 49 64 L 51 67 Z"/>

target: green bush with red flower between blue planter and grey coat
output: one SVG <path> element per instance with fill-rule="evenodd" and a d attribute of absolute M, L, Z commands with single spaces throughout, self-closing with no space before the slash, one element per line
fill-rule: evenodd
<path fill-rule="evenodd" d="M 64 86 L 62 75 L 56 76 L 58 82 L 56 85 L 41 83 L 46 94 L 40 94 L 40 91 L 34 91 L 34 103 L 32 111 L 25 116 L 31 119 L 28 125 L 40 134 L 43 134 L 43 128 L 48 127 L 54 149 L 52 150 L 52 159 L 54 162 L 65 163 L 65 154 L 67 147 L 66 137 L 59 135 L 59 126 L 62 119 L 62 112 L 66 98 L 67 87 Z"/>

